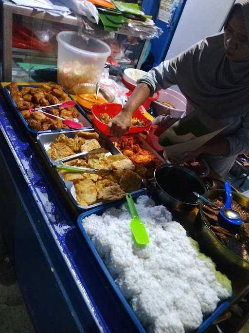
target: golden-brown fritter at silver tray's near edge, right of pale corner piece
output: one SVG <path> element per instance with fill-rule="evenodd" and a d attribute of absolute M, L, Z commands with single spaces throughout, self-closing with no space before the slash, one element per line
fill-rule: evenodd
<path fill-rule="evenodd" d="M 120 200 L 125 196 L 125 192 L 119 184 L 112 183 L 104 179 L 96 183 L 98 190 L 98 198 L 102 200 Z"/>

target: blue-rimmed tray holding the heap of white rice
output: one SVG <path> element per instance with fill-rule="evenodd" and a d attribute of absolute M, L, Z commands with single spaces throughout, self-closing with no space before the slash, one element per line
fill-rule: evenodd
<path fill-rule="evenodd" d="M 141 191 L 141 193 L 133 195 L 133 198 L 136 199 L 136 198 L 138 198 L 139 196 L 142 196 L 142 195 L 148 195 L 148 194 L 144 190 L 144 191 Z M 127 301 L 125 300 L 125 297 L 123 296 L 123 294 L 119 290 L 119 287 L 117 286 L 117 284 L 113 280 L 111 274 L 107 270 L 107 267 L 106 267 L 105 263 L 103 262 L 100 255 L 96 251 L 94 245 L 91 242 L 91 239 L 90 239 L 89 235 L 87 234 L 87 232 L 86 232 L 86 230 L 85 230 L 85 228 L 82 224 L 82 220 L 85 217 L 87 217 L 89 215 L 92 215 L 92 214 L 102 215 L 108 208 L 111 208 L 111 207 L 118 208 L 124 202 L 125 202 L 125 199 L 122 199 L 122 200 L 119 200 L 119 201 L 116 201 L 116 202 L 109 203 L 106 206 L 96 207 L 94 209 L 89 210 L 88 212 L 82 213 L 81 215 L 79 215 L 79 217 L 77 219 L 77 224 L 78 224 L 78 227 L 80 229 L 80 232 L 81 232 L 84 240 L 86 241 L 86 243 L 89 246 L 90 251 L 95 256 L 95 258 L 96 258 L 96 260 L 97 260 L 97 262 L 100 266 L 100 269 L 103 271 L 103 273 L 107 277 L 107 280 L 109 282 L 108 288 L 110 288 L 110 289 L 114 290 L 114 292 L 116 292 L 119 301 L 124 306 L 125 311 L 128 313 L 128 315 L 130 317 L 130 320 L 133 321 L 133 323 L 136 325 L 138 331 L 140 333 L 146 333 L 144 328 L 142 327 L 140 321 L 138 320 L 136 314 L 133 312 L 133 310 L 131 309 L 131 307 L 129 306 Z M 215 309 L 215 311 L 209 317 L 207 317 L 203 320 L 202 324 L 199 326 L 199 328 L 195 332 L 196 333 L 204 333 L 212 325 L 213 321 L 227 309 L 227 307 L 230 305 L 230 303 L 231 303 L 231 299 L 228 299 L 228 300 L 226 300 L 222 303 L 219 303 L 217 308 Z"/>

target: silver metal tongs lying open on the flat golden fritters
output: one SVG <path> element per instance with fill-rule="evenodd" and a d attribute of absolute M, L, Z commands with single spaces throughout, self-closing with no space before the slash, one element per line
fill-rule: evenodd
<path fill-rule="evenodd" d="M 107 176 L 113 172 L 112 169 L 92 169 L 92 168 L 75 167 L 72 165 L 63 164 L 64 162 L 68 162 L 68 161 L 71 161 L 76 158 L 83 158 L 83 157 L 87 157 L 89 155 L 96 155 L 96 154 L 105 153 L 105 152 L 106 152 L 105 148 L 98 148 L 98 149 L 92 149 L 89 152 L 82 152 L 82 153 L 74 154 L 74 155 L 71 155 L 68 157 L 63 157 L 63 158 L 60 158 L 60 159 L 57 159 L 56 161 L 54 161 L 53 167 L 56 168 L 57 170 L 64 170 L 64 171 L 68 171 L 71 173 L 77 173 L 77 174 L 88 173 L 88 174 L 97 174 L 97 175 Z"/>

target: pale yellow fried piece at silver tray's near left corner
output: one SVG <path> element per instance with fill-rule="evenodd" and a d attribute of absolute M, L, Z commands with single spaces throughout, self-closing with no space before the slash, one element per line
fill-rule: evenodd
<path fill-rule="evenodd" d="M 77 202 L 81 206 L 88 206 L 97 201 L 96 185 L 90 179 L 75 180 L 74 182 Z"/>

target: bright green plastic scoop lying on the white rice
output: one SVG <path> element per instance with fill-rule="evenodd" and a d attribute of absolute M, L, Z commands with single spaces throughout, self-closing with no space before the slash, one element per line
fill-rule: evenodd
<path fill-rule="evenodd" d="M 128 208 L 129 208 L 130 214 L 132 216 L 132 220 L 130 222 L 130 228 L 131 228 L 132 234 L 138 244 L 146 245 L 149 243 L 149 237 L 147 235 L 144 224 L 142 223 L 141 219 L 138 216 L 138 212 L 134 205 L 132 196 L 129 193 L 127 193 L 125 197 L 126 197 L 126 201 L 128 203 Z"/>

